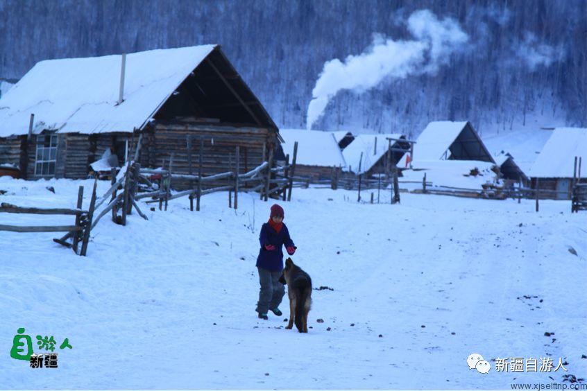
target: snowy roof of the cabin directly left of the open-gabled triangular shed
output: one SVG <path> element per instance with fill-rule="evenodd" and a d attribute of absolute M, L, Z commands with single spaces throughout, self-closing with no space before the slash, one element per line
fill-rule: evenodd
<path fill-rule="evenodd" d="M 343 156 L 348 165 L 348 170 L 357 174 L 366 173 L 381 159 L 387 152 L 389 146 L 388 138 L 399 139 L 402 134 L 359 134 L 343 150 Z M 375 141 L 375 139 L 377 141 Z M 377 148 L 375 149 L 375 143 Z M 393 142 L 392 142 L 393 144 Z M 361 160 L 361 153 L 362 160 Z M 359 162 L 361 171 L 359 171 Z"/>

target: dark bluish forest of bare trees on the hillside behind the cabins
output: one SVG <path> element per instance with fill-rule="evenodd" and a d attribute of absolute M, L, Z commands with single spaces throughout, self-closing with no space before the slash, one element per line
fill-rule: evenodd
<path fill-rule="evenodd" d="M 0 0 L 0 78 L 51 58 L 217 43 L 278 125 L 305 127 L 325 62 L 409 40 L 406 20 L 424 9 L 454 19 L 466 44 L 435 72 L 339 92 L 314 128 L 587 125 L 585 0 Z"/>

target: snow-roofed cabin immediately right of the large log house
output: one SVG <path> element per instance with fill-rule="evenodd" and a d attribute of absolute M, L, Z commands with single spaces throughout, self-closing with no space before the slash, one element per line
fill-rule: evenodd
<path fill-rule="evenodd" d="M 294 159 L 294 145 L 298 142 L 296 155 L 296 177 L 305 177 L 310 182 L 330 180 L 334 171 L 346 167 L 339 144 L 332 132 L 305 129 L 280 129 L 284 140 L 281 145 L 289 161 Z"/>

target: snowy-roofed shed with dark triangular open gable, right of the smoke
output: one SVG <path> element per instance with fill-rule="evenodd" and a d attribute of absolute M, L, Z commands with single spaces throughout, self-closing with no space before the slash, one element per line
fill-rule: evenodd
<path fill-rule="evenodd" d="M 412 160 L 477 160 L 495 163 L 479 134 L 468 121 L 434 121 L 420 133 Z M 405 155 L 399 166 L 409 165 Z"/>

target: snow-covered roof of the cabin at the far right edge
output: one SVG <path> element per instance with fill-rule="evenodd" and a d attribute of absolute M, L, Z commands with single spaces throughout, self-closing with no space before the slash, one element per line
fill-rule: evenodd
<path fill-rule="evenodd" d="M 556 128 L 530 168 L 530 177 L 570 178 L 575 156 L 587 162 L 587 128 Z"/>

